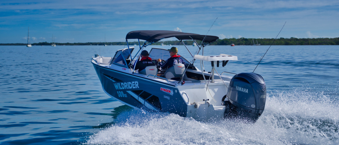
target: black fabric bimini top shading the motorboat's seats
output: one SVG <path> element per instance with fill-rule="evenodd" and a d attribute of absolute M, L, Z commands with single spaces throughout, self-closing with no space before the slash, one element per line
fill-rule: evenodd
<path fill-rule="evenodd" d="M 184 33 L 177 31 L 166 31 L 166 30 L 139 30 L 131 31 L 126 35 L 126 39 L 141 39 L 146 40 L 147 42 L 157 42 L 164 38 L 176 37 L 179 40 L 204 40 L 204 42 L 212 43 L 219 39 L 217 36 L 211 35 L 199 35 L 194 33 Z"/>

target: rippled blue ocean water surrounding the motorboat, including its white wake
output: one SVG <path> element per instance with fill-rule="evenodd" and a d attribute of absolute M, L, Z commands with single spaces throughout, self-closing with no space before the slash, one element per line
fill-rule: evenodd
<path fill-rule="evenodd" d="M 204 55 L 238 56 L 219 73 L 253 72 L 268 47 L 208 46 Z M 0 144 L 339 144 L 339 46 L 272 46 L 254 71 L 267 88 L 255 124 L 123 105 L 104 93 L 90 62 L 119 49 L 0 46 Z M 179 53 L 190 56 L 183 46 Z"/>

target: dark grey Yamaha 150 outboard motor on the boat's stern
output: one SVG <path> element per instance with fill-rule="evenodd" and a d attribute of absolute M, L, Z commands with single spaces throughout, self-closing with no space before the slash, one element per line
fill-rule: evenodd
<path fill-rule="evenodd" d="M 228 100 L 225 100 L 226 97 Z M 239 73 L 231 79 L 221 105 L 226 107 L 224 118 L 239 118 L 255 123 L 264 111 L 265 102 L 264 79 L 255 73 Z"/>

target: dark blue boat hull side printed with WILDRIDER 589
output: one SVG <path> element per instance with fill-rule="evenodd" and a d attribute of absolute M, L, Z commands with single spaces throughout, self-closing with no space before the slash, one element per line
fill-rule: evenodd
<path fill-rule="evenodd" d="M 187 104 L 176 86 L 92 64 L 103 90 L 112 98 L 137 109 L 152 109 L 186 117 Z"/>

